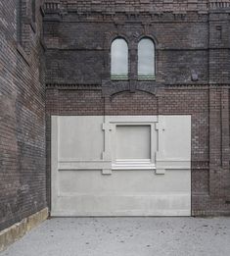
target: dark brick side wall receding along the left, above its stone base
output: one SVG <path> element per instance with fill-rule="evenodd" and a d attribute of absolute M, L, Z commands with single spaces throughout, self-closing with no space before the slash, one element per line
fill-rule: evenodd
<path fill-rule="evenodd" d="M 0 1 L 0 230 L 46 207 L 42 14 Z"/>

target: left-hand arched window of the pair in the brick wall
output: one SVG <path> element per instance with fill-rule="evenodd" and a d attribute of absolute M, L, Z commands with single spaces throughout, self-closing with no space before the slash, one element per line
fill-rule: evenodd
<path fill-rule="evenodd" d="M 128 77 L 128 45 L 122 38 L 116 38 L 111 45 L 111 77 L 114 79 Z"/>

